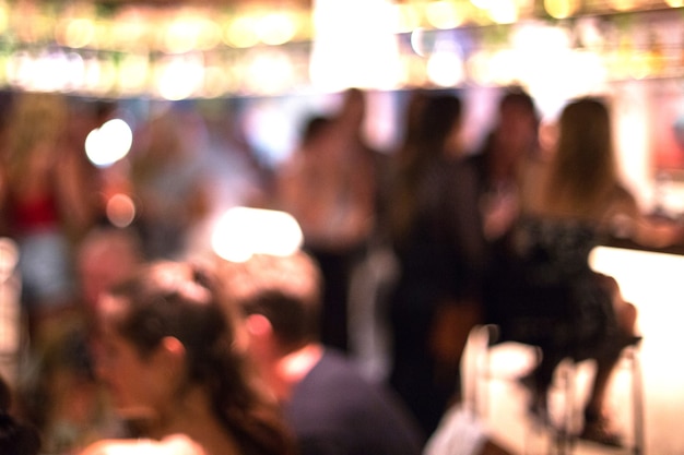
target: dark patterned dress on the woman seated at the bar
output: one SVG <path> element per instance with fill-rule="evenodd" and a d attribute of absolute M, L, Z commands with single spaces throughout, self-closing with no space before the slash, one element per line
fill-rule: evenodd
<path fill-rule="evenodd" d="M 493 313 L 506 338 L 578 360 L 615 345 L 611 290 L 589 265 L 600 241 L 588 221 L 521 217 L 494 278 Z"/>

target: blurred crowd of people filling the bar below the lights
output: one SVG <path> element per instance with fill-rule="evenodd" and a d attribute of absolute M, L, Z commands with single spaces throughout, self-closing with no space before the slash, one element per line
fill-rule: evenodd
<path fill-rule="evenodd" d="M 542 419 L 559 361 L 595 360 L 580 435 L 620 445 L 603 395 L 638 314 L 588 255 L 615 236 L 654 248 L 684 237 L 618 178 L 610 99 L 569 100 L 540 141 L 534 99 L 503 88 L 479 143 L 464 140 L 458 92 L 404 99 L 394 149 L 370 145 L 367 94 L 350 88 L 302 120 L 275 167 L 229 108 L 186 101 L 133 119 L 129 154 L 97 166 L 89 133 L 130 112 L 3 95 L 0 235 L 19 249 L 21 343 L 0 417 L 34 428 L 45 454 L 142 453 L 140 441 L 420 454 L 461 402 L 470 331 L 494 323 L 543 349 L 522 379 Z M 300 251 L 219 258 L 212 228 L 234 206 L 291 214 Z M 367 343 L 385 368 L 362 368 Z M 482 431 L 451 453 L 509 453 Z"/>

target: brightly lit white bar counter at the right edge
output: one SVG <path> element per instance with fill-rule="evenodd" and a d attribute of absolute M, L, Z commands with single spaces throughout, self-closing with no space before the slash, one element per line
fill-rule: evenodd
<path fill-rule="evenodd" d="M 637 326 L 644 335 L 640 357 L 646 453 L 683 454 L 684 246 L 648 249 L 614 239 L 594 249 L 590 263 L 594 270 L 615 277 L 625 299 L 638 310 Z M 632 436 L 628 390 L 629 376 L 618 371 L 613 378 L 610 406 L 621 420 L 621 429 Z"/>

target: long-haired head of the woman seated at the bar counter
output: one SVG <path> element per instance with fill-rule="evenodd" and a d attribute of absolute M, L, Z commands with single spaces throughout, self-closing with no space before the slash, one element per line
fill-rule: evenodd
<path fill-rule="evenodd" d="M 611 117 L 603 100 L 586 97 L 565 106 L 551 172 L 554 190 L 547 195 L 578 206 L 600 199 L 615 183 Z"/>

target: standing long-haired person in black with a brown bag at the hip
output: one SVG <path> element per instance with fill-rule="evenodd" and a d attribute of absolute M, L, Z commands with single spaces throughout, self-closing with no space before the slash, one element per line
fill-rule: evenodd
<path fill-rule="evenodd" d="M 479 258 L 460 226 L 461 99 L 421 95 L 406 116 L 389 208 L 399 265 L 388 298 L 390 383 L 431 434 L 460 393 L 460 356 L 479 314 L 469 290 Z"/>

